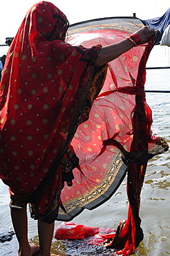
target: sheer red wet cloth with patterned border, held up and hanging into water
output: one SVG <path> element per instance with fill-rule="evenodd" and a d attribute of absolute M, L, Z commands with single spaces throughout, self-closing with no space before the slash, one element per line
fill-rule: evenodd
<path fill-rule="evenodd" d="M 69 28 L 67 40 L 86 47 L 96 42 L 104 46 L 119 42 L 140 26 L 141 21 L 131 18 L 92 20 Z M 89 119 L 79 125 L 71 142 L 79 157 L 73 186 L 65 186 L 61 194 L 58 219 L 70 221 L 82 210 L 93 210 L 109 199 L 128 174 L 128 217 L 106 243 L 121 255 L 134 253 L 143 239 L 139 210 L 147 161 L 168 149 L 164 140 L 152 136 L 152 113 L 144 93 L 145 67 L 154 44 L 152 38 L 108 64 Z"/>

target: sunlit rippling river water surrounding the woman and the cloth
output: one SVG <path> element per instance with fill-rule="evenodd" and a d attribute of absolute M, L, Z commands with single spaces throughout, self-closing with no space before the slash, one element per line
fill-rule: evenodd
<path fill-rule="evenodd" d="M 170 49 L 164 46 L 154 46 L 149 56 L 147 66 L 170 66 Z M 147 90 L 170 91 L 170 69 L 147 70 Z M 147 102 L 153 111 L 153 134 L 167 140 L 170 144 L 170 101 L 169 93 L 147 93 Z M 140 217 L 144 240 L 135 255 L 137 256 L 167 256 L 170 255 L 170 154 L 166 152 L 155 156 L 148 163 L 147 174 L 141 194 Z M 9 212 L 8 187 L 0 181 L 0 227 L 12 230 Z M 122 219 L 126 219 L 128 201 L 126 196 L 126 179 L 110 200 L 99 208 L 84 210 L 73 222 L 85 226 L 100 228 L 117 228 Z M 61 222 L 56 221 L 55 226 Z M 28 237 L 38 243 L 37 222 L 28 218 Z M 69 246 L 68 246 L 69 247 Z M 52 251 L 62 256 L 68 255 L 111 255 L 92 254 L 67 248 L 62 241 L 53 239 Z M 12 241 L 0 243 L 0 255 L 17 256 L 17 241 L 15 236 Z"/>

